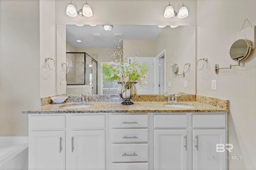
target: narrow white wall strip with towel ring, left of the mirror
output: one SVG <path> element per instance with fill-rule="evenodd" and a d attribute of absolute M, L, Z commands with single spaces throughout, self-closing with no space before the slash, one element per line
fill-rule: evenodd
<path fill-rule="evenodd" d="M 55 1 L 40 0 L 40 97 L 56 94 L 56 68 L 50 70 L 45 57 L 56 61 Z M 53 61 L 49 62 L 54 68 Z"/>

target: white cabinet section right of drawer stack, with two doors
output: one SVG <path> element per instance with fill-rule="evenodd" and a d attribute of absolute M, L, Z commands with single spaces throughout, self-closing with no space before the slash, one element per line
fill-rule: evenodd
<path fill-rule="evenodd" d="M 226 116 L 155 114 L 154 170 L 227 170 L 227 152 L 216 153 L 216 144 L 226 144 Z"/>

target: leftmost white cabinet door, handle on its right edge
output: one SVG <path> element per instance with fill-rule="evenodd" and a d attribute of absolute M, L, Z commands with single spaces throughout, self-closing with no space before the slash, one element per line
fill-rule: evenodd
<path fill-rule="evenodd" d="M 34 131 L 29 136 L 30 170 L 65 169 L 65 132 Z"/>

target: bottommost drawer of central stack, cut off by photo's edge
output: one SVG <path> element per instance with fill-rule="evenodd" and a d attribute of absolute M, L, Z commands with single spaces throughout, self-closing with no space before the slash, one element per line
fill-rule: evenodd
<path fill-rule="evenodd" d="M 112 163 L 112 170 L 148 170 L 148 163 Z"/>

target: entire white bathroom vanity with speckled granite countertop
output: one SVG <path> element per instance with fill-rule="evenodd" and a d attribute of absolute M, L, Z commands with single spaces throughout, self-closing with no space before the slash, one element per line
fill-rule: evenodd
<path fill-rule="evenodd" d="M 200 103 L 90 102 L 28 109 L 29 169 L 227 170 L 228 109 Z"/>

